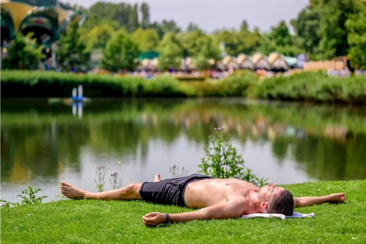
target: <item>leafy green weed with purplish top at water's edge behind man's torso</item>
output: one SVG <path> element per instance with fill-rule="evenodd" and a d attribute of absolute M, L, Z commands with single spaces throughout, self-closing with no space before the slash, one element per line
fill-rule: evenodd
<path fill-rule="evenodd" d="M 205 147 L 206 157 L 201 159 L 201 169 L 198 173 L 206 174 L 214 178 L 236 178 L 253 183 L 261 187 L 268 179 L 259 179 L 252 170 L 244 165 L 244 159 L 238 153 L 230 141 L 230 135 L 224 133 L 224 128 L 214 128 L 209 136 L 209 146 Z"/>

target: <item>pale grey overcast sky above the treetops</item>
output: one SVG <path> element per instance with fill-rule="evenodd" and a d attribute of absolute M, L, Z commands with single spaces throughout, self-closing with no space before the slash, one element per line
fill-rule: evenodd
<path fill-rule="evenodd" d="M 69 0 L 89 7 L 97 0 Z M 118 3 L 120 1 L 112 0 Z M 128 3 L 142 1 L 123 0 Z M 189 22 L 198 23 L 205 31 L 221 28 L 238 28 L 243 19 L 250 29 L 258 26 L 270 30 L 284 19 L 287 23 L 309 3 L 309 0 L 145 0 L 150 5 L 151 21 L 174 19 L 186 29 Z"/>

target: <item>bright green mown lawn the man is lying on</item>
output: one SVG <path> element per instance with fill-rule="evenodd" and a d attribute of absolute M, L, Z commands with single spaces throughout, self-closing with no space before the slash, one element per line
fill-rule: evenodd
<path fill-rule="evenodd" d="M 139 201 L 65 200 L 0 209 L 0 243 L 365 243 L 366 180 L 287 185 L 294 196 L 346 192 L 344 204 L 295 209 L 303 219 L 227 219 L 146 228 L 142 215 L 187 209 Z"/>

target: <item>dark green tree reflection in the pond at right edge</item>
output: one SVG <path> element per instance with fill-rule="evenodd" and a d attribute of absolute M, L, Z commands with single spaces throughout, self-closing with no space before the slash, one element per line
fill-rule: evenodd
<path fill-rule="evenodd" d="M 365 142 L 365 135 L 346 143 L 321 136 L 302 140 L 279 138 L 272 143 L 272 149 L 278 158 L 290 154 L 309 176 L 318 180 L 365 179 Z"/>

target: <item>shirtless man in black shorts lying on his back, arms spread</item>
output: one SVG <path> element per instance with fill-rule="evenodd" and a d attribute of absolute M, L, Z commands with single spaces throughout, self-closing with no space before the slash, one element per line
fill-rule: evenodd
<path fill-rule="evenodd" d="M 289 216 L 293 214 L 294 207 L 341 203 L 346 199 L 344 193 L 294 198 L 290 191 L 273 183 L 259 188 L 243 180 L 214 179 L 202 174 L 166 180 L 161 180 L 160 175 L 156 174 L 154 182 L 133 183 L 122 189 L 99 193 L 83 191 L 61 182 L 61 192 L 71 199 L 145 200 L 199 209 L 179 214 L 149 213 L 142 217 L 146 226 L 195 219 L 238 218 L 253 213 Z"/>

